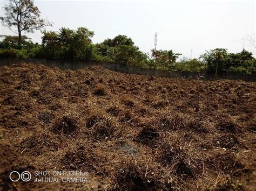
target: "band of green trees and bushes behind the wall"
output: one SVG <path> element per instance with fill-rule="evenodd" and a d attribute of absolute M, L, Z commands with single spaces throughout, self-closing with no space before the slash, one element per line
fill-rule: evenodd
<path fill-rule="evenodd" d="M 240 53 L 228 53 L 224 48 L 216 48 L 198 59 L 183 58 L 178 62 L 181 54 L 172 50 L 152 49 L 150 53 L 143 53 L 131 38 L 124 35 L 93 44 L 93 35 L 94 32 L 85 27 L 77 30 L 62 27 L 58 32 L 44 31 L 42 44 L 33 43 L 26 36 L 22 36 L 21 43 L 18 43 L 16 36 L 5 36 L 0 41 L 0 57 L 104 61 L 173 71 L 256 74 L 256 60 L 245 49 Z"/>

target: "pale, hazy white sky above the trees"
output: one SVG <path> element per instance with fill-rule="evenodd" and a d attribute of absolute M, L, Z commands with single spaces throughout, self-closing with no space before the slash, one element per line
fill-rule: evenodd
<path fill-rule="evenodd" d="M 143 52 L 154 48 L 172 49 L 185 56 L 197 58 L 205 50 L 227 48 L 240 52 L 246 35 L 255 35 L 254 1 L 34 1 L 42 18 L 48 18 L 58 31 L 60 27 L 79 26 L 94 31 L 93 43 L 125 34 Z M 4 16 L 0 0 L 0 16 Z M 13 29 L 15 30 L 15 28 Z M 0 25 L 0 34 L 15 35 Z M 42 33 L 26 33 L 32 41 L 42 43 Z M 244 42 L 248 44 L 247 42 Z M 255 55 L 255 52 L 254 52 Z"/>

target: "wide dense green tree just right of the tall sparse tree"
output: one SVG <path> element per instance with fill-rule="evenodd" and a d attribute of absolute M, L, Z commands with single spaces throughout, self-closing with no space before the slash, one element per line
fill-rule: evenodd
<path fill-rule="evenodd" d="M 91 37 L 94 32 L 85 27 L 71 30 L 65 27 L 59 32 L 44 31 L 42 37 L 43 53 L 48 59 L 60 60 L 92 60 L 95 45 Z"/>

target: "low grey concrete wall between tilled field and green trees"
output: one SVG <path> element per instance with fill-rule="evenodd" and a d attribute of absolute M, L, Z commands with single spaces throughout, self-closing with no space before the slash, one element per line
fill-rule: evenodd
<path fill-rule="evenodd" d="M 159 70 L 159 69 L 145 69 L 138 67 L 127 67 L 125 65 L 120 65 L 119 63 L 109 63 L 109 62 L 93 62 L 93 61 L 60 61 L 60 60 L 46 60 L 46 59 L 0 59 L 0 66 L 10 66 L 19 62 L 26 63 L 35 63 L 42 64 L 48 67 L 58 67 L 63 70 L 76 70 L 84 67 L 90 66 L 102 66 L 104 68 L 114 70 L 121 73 L 127 74 L 139 74 L 139 75 L 148 75 L 148 76 L 157 76 L 157 77 L 186 77 L 191 79 L 197 79 L 199 73 L 197 72 L 173 72 L 168 70 Z M 244 80 L 244 81 L 256 81 L 256 75 L 245 75 L 245 74 L 234 74 L 234 73 L 222 73 L 218 74 L 219 78 L 230 79 L 230 80 Z M 205 80 L 214 79 L 214 74 L 204 74 Z"/>

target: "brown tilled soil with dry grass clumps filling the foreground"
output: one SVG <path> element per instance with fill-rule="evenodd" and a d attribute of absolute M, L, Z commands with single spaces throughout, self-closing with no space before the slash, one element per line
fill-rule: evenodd
<path fill-rule="evenodd" d="M 0 81 L 1 190 L 256 189 L 255 82 L 26 63 Z M 39 183 L 35 171 L 88 175 Z"/>

